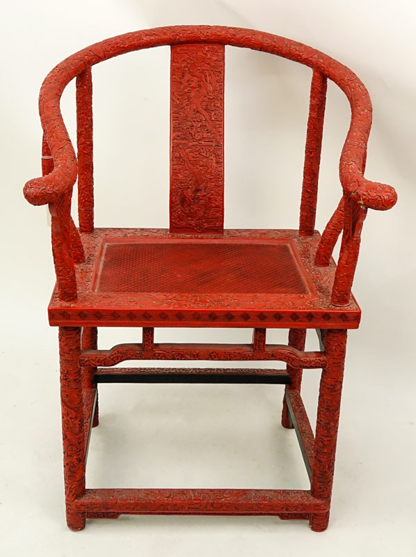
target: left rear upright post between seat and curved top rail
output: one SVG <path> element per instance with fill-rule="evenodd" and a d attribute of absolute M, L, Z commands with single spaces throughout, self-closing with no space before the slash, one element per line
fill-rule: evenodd
<path fill-rule="evenodd" d="M 77 158 L 79 230 L 94 230 L 93 79 L 88 66 L 77 75 Z"/>

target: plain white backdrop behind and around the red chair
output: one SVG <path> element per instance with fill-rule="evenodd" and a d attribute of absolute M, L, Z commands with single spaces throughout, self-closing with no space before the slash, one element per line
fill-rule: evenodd
<path fill-rule="evenodd" d="M 413 2 L 15 0 L 2 15 L 0 549 L 8 556 L 412 555 Z M 123 517 L 94 521 L 82 533 L 65 527 L 58 347 L 46 313 L 54 285 L 50 230 L 45 207 L 31 207 L 22 196 L 24 182 L 40 174 L 38 90 L 56 63 L 82 47 L 170 24 L 243 26 L 305 42 L 348 65 L 373 100 L 366 176 L 396 187 L 399 202 L 389 212 L 369 212 L 363 230 L 353 288 L 362 324 L 349 335 L 333 518 L 321 535 L 303 522 L 253 517 Z M 231 47 L 225 63 L 225 226 L 295 228 L 311 71 Z M 107 61 L 93 68 L 93 80 L 97 226 L 168 226 L 168 47 Z M 73 84 L 62 109 L 73 138 Z M 346 98 L 329 84 L 319 229 L 339 200 L 337 165 L 348 126 Z M 134 329 L 100 332 L 103 347 L 140 337 Z M 248 331 L 165 329 L 157 338 L 234 341 Z M 281 331 L 269 338 L 285 341 Z M 305 373 L 304 389 L 312 416 L 313 374 Z M 293 480 L 306 487 L 294 434 L 279 427 L 281 393 L 273 389 L 103 389 L 90 485 L 298 487 Z"/>

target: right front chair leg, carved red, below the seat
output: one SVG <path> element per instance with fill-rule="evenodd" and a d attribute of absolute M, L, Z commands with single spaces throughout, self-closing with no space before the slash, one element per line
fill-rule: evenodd
<path fill-rule="evenodd" d="M 311 492 L 314 497 L 330 501 L 344 375 L 346 330 L 328 329 L 324 335 L 323 344 L 327 365 L 322 370 L 319 386 Z M 329 511 L 312 513 L 310 527 L 314 532 L 322 532 L 328 527 L 328 521 Z"/>

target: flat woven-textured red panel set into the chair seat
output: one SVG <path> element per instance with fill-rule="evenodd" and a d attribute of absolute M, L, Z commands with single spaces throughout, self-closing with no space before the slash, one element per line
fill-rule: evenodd
<path fill-rule="evenodd" d="M 284 242 L 109 242 L 99 268 L 96 292 L 307 293 L 291 246 Z"/>

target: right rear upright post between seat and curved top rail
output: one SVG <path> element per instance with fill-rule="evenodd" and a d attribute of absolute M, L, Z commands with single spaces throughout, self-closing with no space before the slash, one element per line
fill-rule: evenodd
<path fill-rule="evenodd" d="M 318 70 L 313 70 L 303 166 L 301 216 L 299 219 L 299 235 L 301 236 L 312 236 L 315 228 L 326 88 L 326 77 Z"/>

